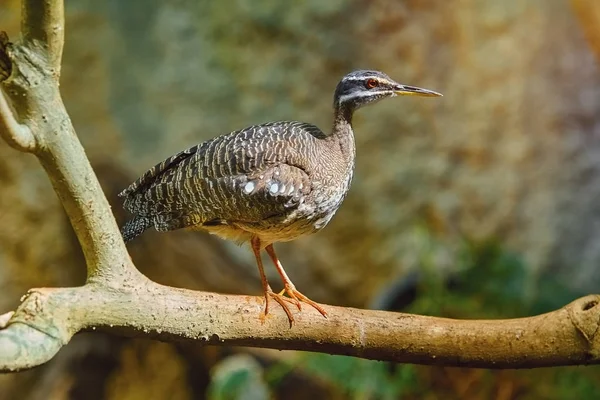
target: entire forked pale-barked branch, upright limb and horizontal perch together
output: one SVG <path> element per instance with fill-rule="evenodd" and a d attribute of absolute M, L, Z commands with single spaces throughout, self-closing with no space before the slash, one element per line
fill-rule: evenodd
<path fill-rule="evenodd" d="M 88 279 L 77 288 L 32 289 L 0 316 L 0 372 L 50 360 L 77 332 L 104 329 L 161 340 L 193 340 L 319 351 L 377 360 L 488 368 L 600 363 L 600 296 L 513 320 L 459 321 L 328 306 L 258 318 L 262 298 L 169 288 L 135 268 L 64 108 L 58 80 L 64 16 L 60 0 L 23 0 L 23 39 L 0 37 L 0 131 L 35 154 L 83 248 Z"/>

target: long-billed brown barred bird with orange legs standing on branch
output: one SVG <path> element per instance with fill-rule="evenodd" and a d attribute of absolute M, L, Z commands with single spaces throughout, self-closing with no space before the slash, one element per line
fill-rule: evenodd
<path fill-rule="evenodd" d="M 133 214 L 121 228 L 125 242 L 154 227 L 159 232 L 203 230 L 250 243 L 262 289 L 264 314 L 279 303 L 290 328 L 306 303 L 327 318 L 325 309 L 296 289 L 273 244 L 323 229 L 346 197 L 355 166 L 352 117 L 359 108 L 398 95 L 441 96 L 400 84 L 383 72 L 345 75 L 333 96 L 333 127 L 278 121 L 249 126 L 183 150 L 146 171 L 123 190 L 123 206 Z M 271 288 L 261 251 L 273 262 L 283 290 Z"/>

